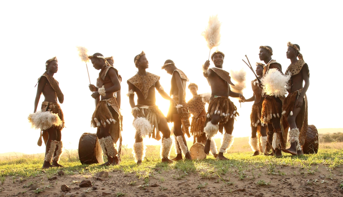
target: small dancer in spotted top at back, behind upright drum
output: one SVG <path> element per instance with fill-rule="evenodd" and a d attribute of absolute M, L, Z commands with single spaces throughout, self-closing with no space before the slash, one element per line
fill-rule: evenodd
<path fill-rule="evenodd" d="M 193 95 L 193 98 L 187 102 L 189 113 L 193 115 L 191 122 L 191 135 L 193 135 L 194 138 L 193 144 L 198 142 L 204 145 L 206 141 L 206 134 L 204 132 L 206 121 L 205 104 L 206 102 L 210 102 L 211 94 L 206 93 L 199 95 L 197 92 L 198 85 L 194 83 L 190 83 L 188 89 Z M 214 158 L 218 156 L 217 147 L 213 139 L 211 139 L 210 151 Z"/>

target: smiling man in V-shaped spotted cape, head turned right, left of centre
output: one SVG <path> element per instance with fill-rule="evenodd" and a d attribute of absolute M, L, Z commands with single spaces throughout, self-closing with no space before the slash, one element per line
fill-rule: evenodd
<path fill-rule="evenodd" d="M 138 68 L 138 72 L 127 81 L 129 85 L 127 96 L 132 108 L 132 115 L 135 118 L 133 122 L 136 129 L 135 143 L 133 144 L 135 161 L 137 164 L 142 164 L 144 158 L 143 138 L 146 135 L 149 135 L 149 137 L 152 135 L 154 139 L 160 140 L 159 132 L 161 131 L 162 162 L 173 163 L 168 159 L 173 140 L 170 138 L 167 119 L 156 106 L 155 88 L 163 98 L 171 101 L 173 99 L 163 90 L 159 83 L 160 77 L 146 72 L 146 69 L 149 68 L 149 62 L 143 51 L 134 57 L 134 64 Z M 134 101 L 134 93 L 137 94 L 137 105 Z"/>

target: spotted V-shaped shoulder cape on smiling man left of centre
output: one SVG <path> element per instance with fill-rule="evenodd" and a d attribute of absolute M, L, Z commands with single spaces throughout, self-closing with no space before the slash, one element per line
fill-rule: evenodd
<path fill-rule="evenodd" d="M 138 73 L 131 77 L 128 82 L 137 87 L 143 94 L 144 99 L 148 97 L 148 92 L 151 86 L 155 85 L 159 80 L 159 76 L 146 72 L 146 75 L 140 76 Z"/>

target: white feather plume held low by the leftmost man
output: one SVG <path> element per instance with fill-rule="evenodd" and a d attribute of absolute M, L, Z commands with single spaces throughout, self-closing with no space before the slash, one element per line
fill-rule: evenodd
<path fill-rule="evenodd" d="M 32 128 L 47 130 L 52 126 L 62 125 L 62 121 L 58 114 L 51 113 L 50 111 L 37 111 L 31 113 L 27 117 L 28 121 L 31 123 Z"/>

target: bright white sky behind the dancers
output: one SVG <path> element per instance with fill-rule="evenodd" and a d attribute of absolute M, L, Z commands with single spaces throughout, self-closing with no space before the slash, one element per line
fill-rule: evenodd
<path fill-rule="evenodd" d="M 300 45 L 310 69 L 309 124 L 317 128 L 341 128 L 343 107 L 336 99 L 341 95 L 343 71 L 342 63 L 336 61 L 342 55 L 343 45 L 340 8 L 341 1 L 2 2 L 0 153 L 45 151 L 44 145 L 37 146 L 39 131 L 31 129 L 27 116 L 33 112 L 37 78 L 45 71 L 45 61 L 54 56 L 58 57 L 59 64 L 54 77 L 64 94 L 61 105 L 67 127 L 62 131 L 64 147 L 77 149 L 82 133 L 96 132 L 90 127 L 94 100 L 76 46 L 86 47 L 89 54 L 114 56 L 115 67 L 123 77 L 123 144 L 132 147 L 133 117 L 126 97 L 126 80 L 137 71 L 134 56 L 145 51 L 150 63 L 147 71 L 161 76 L 166 92 L 171 77 L 161 70 L 166 59 L 172 59 L 191 82 L 199 85 L 199 93 L 210 92 L 201 71 L 209 54 L 201 32 L 209 16 L 215 14 L 222 22 L 218 49 L 225 53 L 223 68 L 229 72 L 246 70 L 246 98 L 252 96 L 250 81 L 254 76 L 241 61 L 244 55 L 255 64 L 259 61 L 259 46 L 269 45 L 273 48 L 273 59 L 285 71 L 290 64 L 286 43 L 291 41 Z M 98 71 L 91 63 L 88 69 L 95 84 Z M 190 98 L 187 89 L 187 99 Z M 42 96 L 38 108 L 43 100 Z M 252 102 L 243 103 L 239 108 L 238 100 L 232 100 L 240 113 L 233 135 L 249 136 Z M 158 95 L 157 105 L 167 114 L 167 100 Z M 161 142 L 145 140 L 148 143 Z"/>

